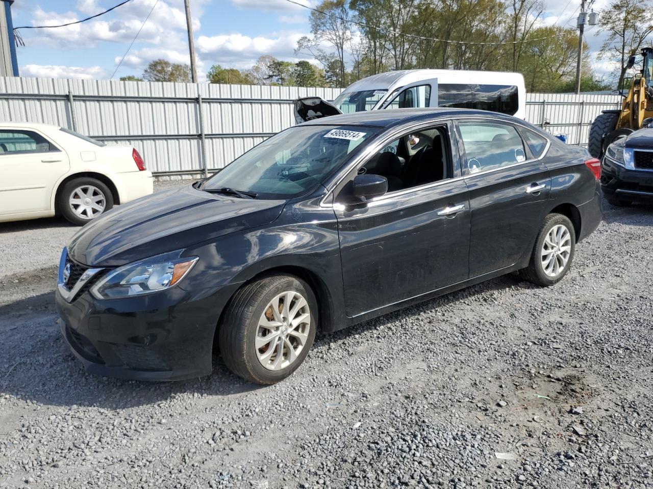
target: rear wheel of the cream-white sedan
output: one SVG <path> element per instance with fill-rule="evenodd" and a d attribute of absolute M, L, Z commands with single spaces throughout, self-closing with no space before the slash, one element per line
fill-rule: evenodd
<path fill-rule="evenodd" d="M 114 196 L 108 186 L 94 178 L 76 178 L 63 186 L 57 207 L 69 222 L 84 226 L 114 207 Z"/>

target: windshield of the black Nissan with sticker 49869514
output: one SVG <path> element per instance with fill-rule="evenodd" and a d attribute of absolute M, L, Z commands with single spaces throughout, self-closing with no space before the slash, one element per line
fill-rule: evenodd
<path fill-rule="evenodd" d="M 208 179 L 206 191 L 287 199 L 315 188 L 380 128 L 295 126 L 263 141 Z"/>

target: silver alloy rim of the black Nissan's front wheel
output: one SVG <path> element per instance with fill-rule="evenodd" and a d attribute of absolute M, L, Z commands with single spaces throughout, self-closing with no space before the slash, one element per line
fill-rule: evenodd
<path fill-rule="evenodd" d="M 280 293 L 261 314 L 256 332 L 256 355 L 268 370 L 281 370 L 296 361 L 306 346 L 311 311 L 296 291 Z"/>

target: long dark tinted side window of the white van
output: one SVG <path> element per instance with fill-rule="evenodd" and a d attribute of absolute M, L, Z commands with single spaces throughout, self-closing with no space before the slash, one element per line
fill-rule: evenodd
<path fill-rule="evenodd" d="M 438 83 L 438 107 L 491 110 L 515 115 L 519 97 L 515 85 Z"/>

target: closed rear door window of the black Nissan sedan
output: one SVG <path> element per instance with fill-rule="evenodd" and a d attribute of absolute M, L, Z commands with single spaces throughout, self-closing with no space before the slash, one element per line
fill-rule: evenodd
<path fill-rule="evenodd" d="M 488 122 L 460 122 L 470 173 L 494 170 L 526 161 L 524 141 L 513 126 Z"/>

